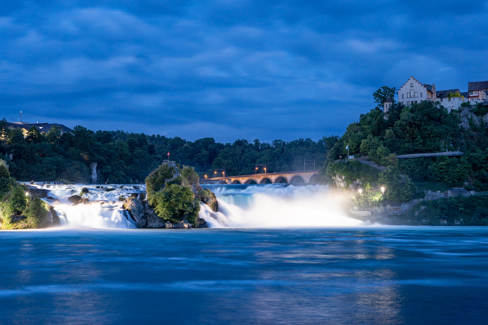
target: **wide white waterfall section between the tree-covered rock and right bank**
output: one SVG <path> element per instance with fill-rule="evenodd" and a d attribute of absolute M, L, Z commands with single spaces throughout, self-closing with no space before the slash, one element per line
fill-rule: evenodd
<path fill-rule="evenodd" d="M 328 185 L 203 185 L 215 193 L 219 212 L 202 205 L 200 217 L 212 228 L 359 226 L 347 217 Z"/>

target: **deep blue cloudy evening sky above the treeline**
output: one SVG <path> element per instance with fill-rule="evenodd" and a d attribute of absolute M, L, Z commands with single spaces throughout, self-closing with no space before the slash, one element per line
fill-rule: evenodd
<path fill-rule="evenodd" d="M 0 118 L 290 141 L 488 80 L 488 1 L 2 0 Z"/>

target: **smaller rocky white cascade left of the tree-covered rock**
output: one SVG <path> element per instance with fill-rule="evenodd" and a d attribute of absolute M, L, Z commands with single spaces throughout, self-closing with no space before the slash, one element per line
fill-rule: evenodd
<path fill-rule="evenodd" d="M 145 193 L 145 185 L 30 185 L 31 187 L 47 191 L 47 196 L 53 199 L 43 199 L 54 207 L 60 223 L 69 227 L 90 228 L 137 228 L 136 223 L 128 212 L 123 209 L 123 201 L 119 198 L 130 197 L 134 193 Z M 98 188 L 97 188 L 98 187 Z M 81 194 L 83 188 L 87 193 Z M 80 195 L 88 202 L 73 205 L 68 201 L 72 195 Z"/>

